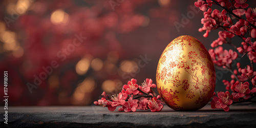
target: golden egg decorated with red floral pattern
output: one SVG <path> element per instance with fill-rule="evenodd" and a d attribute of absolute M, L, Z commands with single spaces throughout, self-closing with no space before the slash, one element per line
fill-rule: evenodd
<path fill-rule="evenodd" d="M 183 35 L 164 49 L 157 66 L 157 90 L 166 105 L 176 111 L 196 111 L 215 90 L 214 63 L 196 38 Z"/>

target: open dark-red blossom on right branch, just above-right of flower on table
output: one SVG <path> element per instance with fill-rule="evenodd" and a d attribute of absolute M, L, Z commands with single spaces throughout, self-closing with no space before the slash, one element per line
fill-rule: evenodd
<path fill-rule="evenodd" d="M 232 93 L 234 98 L 248 99 L 250 97 L 249 82 L 236 82 L 234 83 L 234 87 L 235 92 Z"/>

